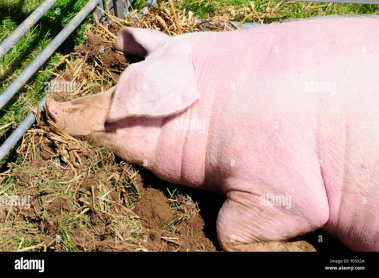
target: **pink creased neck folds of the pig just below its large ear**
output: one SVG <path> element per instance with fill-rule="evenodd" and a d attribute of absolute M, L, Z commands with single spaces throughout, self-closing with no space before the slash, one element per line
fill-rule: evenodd
<path fill-rule="evenodd" d="M 147 169 L 165 181 L 199 187 L 205 176 L 208 123 L 195 123 L 194 110 L 196 105 L 162 121 L 155 147 L 157 159 Z"/>

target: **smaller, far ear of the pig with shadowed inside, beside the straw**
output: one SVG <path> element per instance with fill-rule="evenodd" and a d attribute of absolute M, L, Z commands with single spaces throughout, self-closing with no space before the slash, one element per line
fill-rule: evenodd
<path fill-rule="evenodd" d="M 157 30 L 123 27 L 119 31 L 113 48 L 133 55 L 153 52 L 169 35 Z"/>

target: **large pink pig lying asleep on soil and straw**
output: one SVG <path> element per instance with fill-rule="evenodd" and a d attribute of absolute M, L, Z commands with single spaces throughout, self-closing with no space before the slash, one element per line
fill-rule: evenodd
<path fill-rule="evenodd" d="M 160 179 L 226 197 L 225 251 L 277 251 L 322 228 L 379 251 L 379 17 L 317 17 L 170 37 L 123 27 L 145 55 L 103 93 L 47 112 Z"/>

